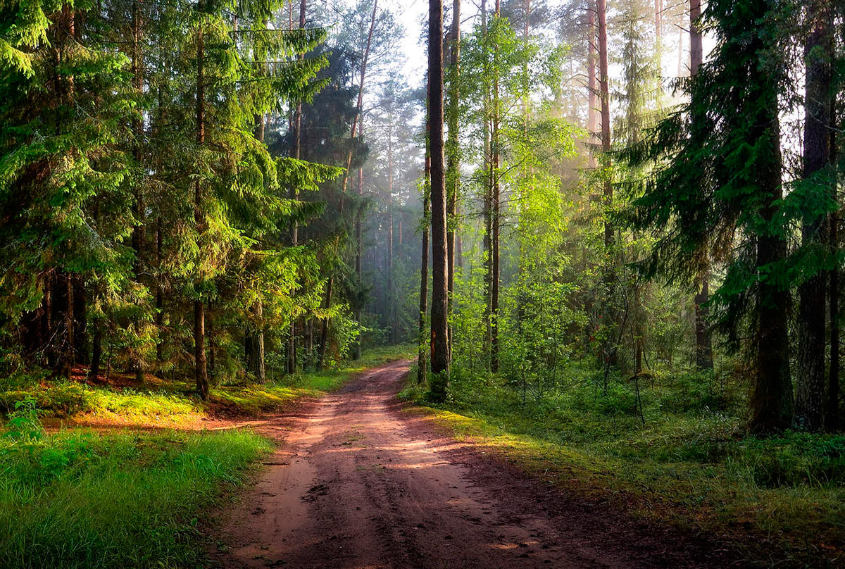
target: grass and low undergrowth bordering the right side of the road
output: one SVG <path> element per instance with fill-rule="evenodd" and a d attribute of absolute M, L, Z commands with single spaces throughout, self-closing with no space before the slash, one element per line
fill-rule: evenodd
<path fill-rule="evenodd" d="M 401 397 L 423 406 L 412 413 L 428 413 L 550 483 L 716 533 L 749 564 L 835 566 L 845 558 L 845 435 L 750 436 L 741 386 L 701 375 L 641 386 L 641 419 L 628 386 L 604 394 L 589 370 L 568 372 L 558 386 L 527 390 L 524 402 L 520 385 L 460 369 L 445 405 L 428 404 L 413 383 Z"/>

